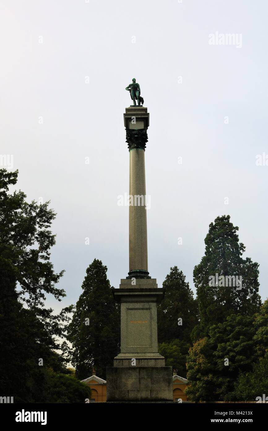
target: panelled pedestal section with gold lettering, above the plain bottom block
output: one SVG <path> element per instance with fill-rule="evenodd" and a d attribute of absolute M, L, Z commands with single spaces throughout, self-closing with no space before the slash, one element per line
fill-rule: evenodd
<path fill-rule="evenodd" d="M 164 289 L 158 289 L 152 278 L 137 278 L 136 285 L 132 282 L 121 280 L 120 288 L 114 290 L 114 298 L 121 304 L 121 351 L 114 366 L 164 366 L 157 347 L 157 302 Z"/>

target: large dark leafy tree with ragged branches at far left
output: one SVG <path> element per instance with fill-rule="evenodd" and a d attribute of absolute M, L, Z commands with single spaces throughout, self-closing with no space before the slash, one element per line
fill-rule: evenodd
<path fill-rule="evenodd" d="M 0 387 L 15 403 L 42 402 L 49 399 L 48 370 L 67 372 L 62 339 L 72 307 L 54 315 L 44 306 L 46 294 L 65 297 L 55 286 L 63 271 L 56 274 L 49 260 L 55 212 L 49 202 L 10 193 L 17 177 L 18 171 L 0 169 Z"/>

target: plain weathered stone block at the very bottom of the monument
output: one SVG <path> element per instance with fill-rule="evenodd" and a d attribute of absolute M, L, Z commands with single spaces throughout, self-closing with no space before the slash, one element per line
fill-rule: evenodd
<path fill-rule="evenodd" d="M 107 367 L 107 401 L 173 401 L 171 367 Z"/>

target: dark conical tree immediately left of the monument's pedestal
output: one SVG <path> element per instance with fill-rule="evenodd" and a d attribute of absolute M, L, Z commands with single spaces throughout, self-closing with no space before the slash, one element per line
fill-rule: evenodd
<path fill-rule="evenodd" d="M 119 350 L 119 309 L 106 272 L 107 267 L 97 259 L 86 269 L 83 293 L 68 328 L 72 363 L 81 380 L 89 377 L 93 364 L 99 377 L 105 378 L 106 367 L 113 366 Z"/>

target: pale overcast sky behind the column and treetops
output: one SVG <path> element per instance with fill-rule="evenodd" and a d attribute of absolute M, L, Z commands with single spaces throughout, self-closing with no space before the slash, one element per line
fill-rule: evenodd
<path fill-rule="evenodd" d="M 114 287 L 129 270 L 117 197 L 128 193 L 133 77 L 150 112 L 151 277 L 161 287 L 177 265 L 195 292 L 209 223 L 230 214 L 267 297 L 268 166 L 256 165 L 268 155 L 267 16 L 265 0 L 0 1 L 0 153 L 27 199 L 57 212 L 51 257 L 67 297 L 49 306 L 77 301 L 94 258 Z"/>

